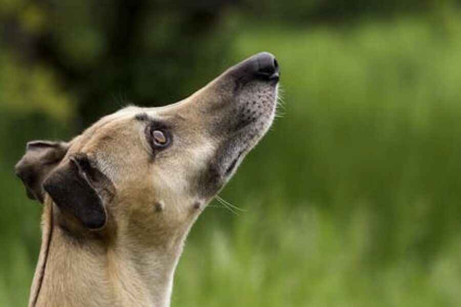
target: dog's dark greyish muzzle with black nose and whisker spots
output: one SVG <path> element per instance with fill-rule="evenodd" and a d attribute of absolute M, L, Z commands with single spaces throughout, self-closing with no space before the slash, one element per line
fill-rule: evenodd
<path fill-rule="evenodd" d="M 221 99 L 211 103 L 211 134 L 220 139 L 203 175 L 205 195 L 216 193 L 231 178 L 246 153 L 264 136 L 277 105 L 279 64 L 259 53 L 227 70 L 213 83 Z"/>

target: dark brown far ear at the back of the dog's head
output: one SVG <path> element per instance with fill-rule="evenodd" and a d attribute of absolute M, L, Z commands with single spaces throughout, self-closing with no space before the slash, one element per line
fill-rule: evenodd
<path fill-rule="evenodd" d="M 66 155 L 69 144 L 65 142 L 32 141 L 27 143 L 24 157 L 16 164 L 16 176 L 26 187 L 31 200 L 43 203 L 43 181 Z"/>

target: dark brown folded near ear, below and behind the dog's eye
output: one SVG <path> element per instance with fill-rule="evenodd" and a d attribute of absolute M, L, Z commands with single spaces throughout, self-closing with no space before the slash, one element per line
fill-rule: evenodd
<path fill-rule="evenodd" d="M 89 229 L 106 225 L 107 213 L 102 205 L 101 190 L 105 177 L 84 155 L 74 156 L 69 163 L 54 170 L 43 183 L 45 191 L 63 211 L 71 213 Z M 106 191 L 105 188 L 103 188 Z"/>

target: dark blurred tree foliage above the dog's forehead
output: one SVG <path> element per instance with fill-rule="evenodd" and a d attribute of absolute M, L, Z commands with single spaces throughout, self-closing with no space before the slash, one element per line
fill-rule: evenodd
<path fill-rule="evenodd" d="M 213 76 L 228 45 L 220 18 L 228 5 L 228 0 L 26 0 L 0 10 L 0 39 L 24 65 L 53 70 L 78 102 L 77 115 L 86 125 L 127 103 L 174 102 L 198 85 L 197 77 Z M 41 20 L 32 30 L 23 18 L 30 7 Z"/>

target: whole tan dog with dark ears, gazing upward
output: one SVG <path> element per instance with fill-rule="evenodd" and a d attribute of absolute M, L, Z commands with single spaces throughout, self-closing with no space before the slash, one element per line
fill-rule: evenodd
<path fill-rule="evenodd" d="M 185 237 L 273 122 L 279 77 L 260 53 L 177 103 L 29 142 L 15 167 L 43 204 L 29 306 L 169 306 Z"/>

